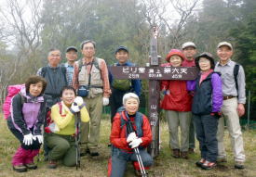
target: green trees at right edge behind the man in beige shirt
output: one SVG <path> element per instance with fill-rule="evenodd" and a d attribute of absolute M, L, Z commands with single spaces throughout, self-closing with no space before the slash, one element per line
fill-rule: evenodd
<path fill-rule="evenodd" d="M 192 40 L 199 52 L 208 51 L 216 56 L 216 45 L 228 41 L 234 45 L 233 59 L 246 72 L 247 92 L 251 92 L 251 107 L 256 107 L 256 1 L 204 0 L 197 17 L 191 17 L 184 29 L 184 41 Z M 251 117 L 256 111 L 251 108 Z"/>

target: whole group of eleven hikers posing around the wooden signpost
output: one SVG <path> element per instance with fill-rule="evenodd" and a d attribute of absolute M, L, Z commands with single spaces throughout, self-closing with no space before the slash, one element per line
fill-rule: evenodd
<path fill-rule="evenodd" d="M 196 56 L 193 42 L 182 44 L 182 50 L 171 49 L 162 67 L 196 67 L 195 81 L 167 80 L 160 82 L 160 107 L 166 111 L 169 146 L 174 158 L 188 158 L 195 153 L 195 134 L 201 158 L 196 166 L 209 170 L 217 162 L 226 162 L 224 122 L 230 134 L 235 168 L 244 169 L 245 153 L 239 117 L 245 113 L 245 74 L 243 67 L 231 60 L 233 46 L 217 45 L 219 61 L 211 54 Z M 153 164 L 146 148 L 152 142 L 149 120 L 138 111 L 140 80 L 117 80 L 104 59 L 95 57 L 96 44 L 81 44 L 83 57 L 76 61 L 78 50 L 66 49 L 67 62 L 61 64 L 61 51 L 51 49 L 48 64 L 31 76 L 12 98 L 7 125 L 20 141 L 12 158 L 14 171 L 36 169 L 34 157 L 44 144 L 47 167 L 55 169 L 76 164 L 75 122 L 81 120 L 80 155 L 100 156 L 99 140 L 102 106 L 111 107 L 111 158 L 108 176 L 120 177 L 128 161 L 141 175 Z M 115 50 L 114 66 L 135 66 L 129 61 L 126 46 Z M 128 126 L 131 124 L 131 126 Z M 131 127 L 131 128 L 130 128 Z M 179 127 L 181 143 L 179 142 Z M 135 153 L 139 152 L 139 153 Z M 141 163 L 138 159 L 141 158 Z"/>

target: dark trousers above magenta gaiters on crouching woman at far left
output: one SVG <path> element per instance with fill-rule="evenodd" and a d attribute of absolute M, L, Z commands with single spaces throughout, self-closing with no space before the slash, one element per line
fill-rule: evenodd
<path fill-rule="evenodd" d="M 33 140 L 32 145 L 25 145 L 23 144 L 24 135 L 20 133 L 17 129 L 10 129 L 10 132 L 15 135 L 15 137 L 20 141 L 21 147 L 26 150 L 35 150 L 40 149 L 41 144 L 38 142 L 37 138 Z M 33 130 L 31 130 L 33 133 Z"/>

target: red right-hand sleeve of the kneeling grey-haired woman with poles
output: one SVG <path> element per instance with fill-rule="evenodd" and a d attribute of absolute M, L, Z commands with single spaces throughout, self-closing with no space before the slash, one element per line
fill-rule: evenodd
<path fill-rule="evenodd" d="M 152 142 L 152 132 L 148 119 L 143 115 L 143 123 L 142 123 L 142 132 L 143 136 L 141 137 L 142 143 L 141 146 L 146 147 Z"/>

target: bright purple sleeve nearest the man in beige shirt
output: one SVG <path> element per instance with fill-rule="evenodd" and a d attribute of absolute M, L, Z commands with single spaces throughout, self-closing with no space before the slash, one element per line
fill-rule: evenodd
<path fill-rule="evenodd" d="M 212 86 L 212 112 L 221 112 L 222 110 L 222 78 L 217 73 L 211 76 Z"/>

